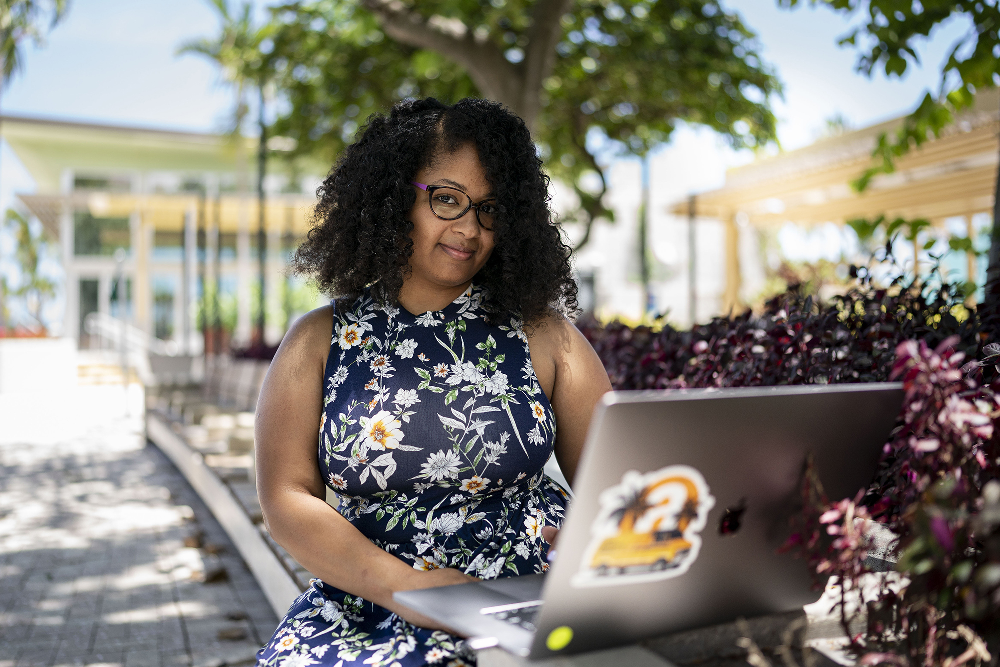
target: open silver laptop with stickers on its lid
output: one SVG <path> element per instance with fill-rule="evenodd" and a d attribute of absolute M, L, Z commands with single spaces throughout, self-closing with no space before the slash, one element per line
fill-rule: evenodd
<path fill-rule="evenodd" d="M 801 608 L 820 592 L 777 549 L 805 462 L 830 500 L 854 496 L 902 401 L 895 383 L 612 392 L 548 574 L 394 598 L 473 648 L 533 659 Z"/>

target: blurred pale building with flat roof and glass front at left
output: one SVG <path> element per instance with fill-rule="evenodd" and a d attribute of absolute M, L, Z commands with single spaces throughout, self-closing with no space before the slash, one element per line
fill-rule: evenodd
<path fill-rule="evenodd" d="M 37 184 L 19 198 L 59 244 L 65 336 L 87 347 L 86 316 L 102 312 L 188 354 L 220 320 L 248 345 L 263 226 L 266 339 L 280 341 L 294 287 L 284 268 L 326 167 L 283 159 L 288 140 L 274 137 L 261 215 L 255 138 L 14 116 L 0 131 Z"/>

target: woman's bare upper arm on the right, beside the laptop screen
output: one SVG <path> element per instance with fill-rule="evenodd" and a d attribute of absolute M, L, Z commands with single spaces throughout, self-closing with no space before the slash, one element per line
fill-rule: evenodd
<path fill-rule="evenodd" d="M 528 340 L 532 365 L 556 415 L 556 461 L 570 486 L 594 407 L 611 381 L 600 358 L 569 319 L 554 314 Z"/>

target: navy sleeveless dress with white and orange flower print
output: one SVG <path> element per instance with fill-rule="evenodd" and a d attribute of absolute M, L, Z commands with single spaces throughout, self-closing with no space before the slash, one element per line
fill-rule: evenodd
<path fill-rule="evenodd" d="M 417 570 L 481 579 L 544 572 L 545 525 L 566 492 L 543 472 L 555 418 L 521 322 L 490 326 L 470 286 L 414 315 L 370 294 L 335 314 L 319 428 L 320 470 L 340 513 Z M 258 667 L 475 664 L 465 643 L 318 579 Z"/>

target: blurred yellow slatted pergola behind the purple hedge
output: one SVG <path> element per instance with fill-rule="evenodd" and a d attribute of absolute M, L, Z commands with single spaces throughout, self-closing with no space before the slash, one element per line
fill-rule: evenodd
<path fill-rule="evenodd" d="M 805 226 L 878 215 L 926 218 L 934 224 L 993 210 L 1000 156 L 1000 92 L 980 93 L 975 107 L 961 114 L 943 136 L 926 141 L 896 161 L 892 173 L 872 179 L 863 193 L 850 181 L 876 162 L 872 151 L 883 132 L 890 135 L 903 118 L 836 137 L 746 166 L 731 169 L 726 184 L 669 207 L 692 220 L 710 217 L 726 228 L 724 309 L 739 305 L 741 285 L 737 218 L 755 226 L 795 222 Z M 970 256 L 970 268 L 975 258 Z"/>

